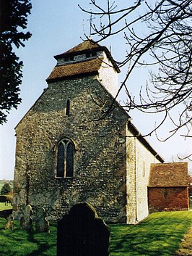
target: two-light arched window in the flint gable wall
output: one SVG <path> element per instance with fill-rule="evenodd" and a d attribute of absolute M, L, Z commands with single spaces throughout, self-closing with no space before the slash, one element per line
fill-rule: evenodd
<path fill-rule="evenodd" d="M 70 139 L 62 139 L 57 146 L 56 177 L 74 176 L 74 143 Z"/>

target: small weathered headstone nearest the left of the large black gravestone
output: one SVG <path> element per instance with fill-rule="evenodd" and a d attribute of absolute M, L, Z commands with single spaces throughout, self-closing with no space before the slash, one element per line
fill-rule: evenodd
<path fill-rule="evenodd" d="M 38 208 L 35 214 L 35 230 L 37 232 L 49 231 L 49 223 L 48 223 L 48 220 L 45 219 L 45 217 L 46 217 L 45 209 L 43 207 Z"/>

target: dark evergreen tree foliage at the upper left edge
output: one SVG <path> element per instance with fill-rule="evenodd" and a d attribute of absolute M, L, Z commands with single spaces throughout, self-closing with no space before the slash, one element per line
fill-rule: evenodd
<path fill-rule="evenodd" d="M 21 102 L 19 86 L 22 83 L 22 62 L 14 54 L 13 45 L 25 46 L 31 36 L 24 32 L 27 15 L 30 14 L 30 0 L 0 0 L 0 123 L 6 122 L 12 107 L 17 109 Z"/>

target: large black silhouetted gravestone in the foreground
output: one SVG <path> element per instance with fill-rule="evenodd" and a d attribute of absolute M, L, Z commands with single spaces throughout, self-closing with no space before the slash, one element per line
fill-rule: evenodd
<path fill-rule="evenodd" d="M 110 229 L 90 205 L 79 204 L 58 221 L 57 256 L 108 256 Z"/>

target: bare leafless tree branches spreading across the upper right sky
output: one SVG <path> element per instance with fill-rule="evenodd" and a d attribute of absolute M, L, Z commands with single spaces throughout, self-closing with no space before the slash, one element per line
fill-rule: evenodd
<path fill-rule="evenodd" d="M 124 1 L 125 6 L 110 0 L 97 3 L 97 0 L 90 0 L 92 9 L 89 10 L 80 7 L 91 15 L 91 36 L 97 36 L 100 42 L 123 33 L 126 41 L 127 54 L 118 65 L 127 65 L 127 74 L 118 94 L 125 89 L 127 111 L 163 113 L 153 131 L 169 118 L 174 125 L 170 136 L 185 127 L 183 136 L 191 138 L 192 1 L 134 0 Z M 151 80 L 136 96 L 131 94 L 127 82 L 133 70 L 139 67 L 151 68 Z M 108 115 L 112 107 L 113 102 L 102 117 Z M 180 110 L 176 118 L 173 117 L 175 109 Z"/>

